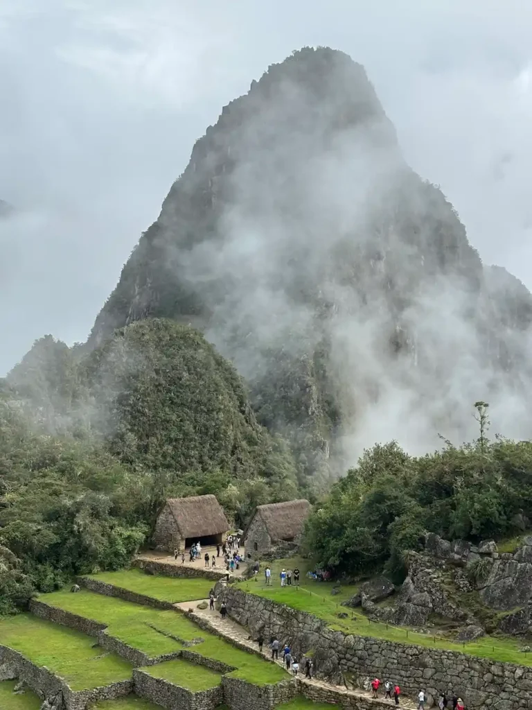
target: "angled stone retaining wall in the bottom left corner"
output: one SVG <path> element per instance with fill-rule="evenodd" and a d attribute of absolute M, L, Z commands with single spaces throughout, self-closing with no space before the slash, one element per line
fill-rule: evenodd
<path fill-rule="evenodd" d="M 86 710 L 87 706 L 102 700 L 114 700 L 133 691 L 133 681 L 123 680 L 98 688 L 74 691 L 65 681 L 45 666 L 36 666 L 18 651 L 0 646 L 0 663 L 16 671 L 16 677 L 25 682 L 40 698 L 61 696 L 66 710 Z"/>

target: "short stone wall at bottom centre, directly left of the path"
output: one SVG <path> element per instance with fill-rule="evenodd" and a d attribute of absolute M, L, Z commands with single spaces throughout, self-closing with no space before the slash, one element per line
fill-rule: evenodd
<path fill-rule="evenodd" d="M 275 685 L 252 685 L 240 678 L 222 678 L 223 701 L 231 710 L 272 710 L 298 694 L 297 682 L 282 680 Z"/>

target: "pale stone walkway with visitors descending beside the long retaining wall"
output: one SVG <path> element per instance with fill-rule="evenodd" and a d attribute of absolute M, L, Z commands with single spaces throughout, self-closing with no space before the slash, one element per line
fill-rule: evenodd
<path fill-rule="evenodd" d="M 248 629 L 240 626 L 239 623 L 234 621 L 234 619 L 229 616 L 226 616 L 225 619 L 221 618 L 218 611 L 210 611 L 209 608 L 199 609 L 198 604 L 202 601 L 208 600 L 198 599 L 197 601 L 184 601 L 182 603 L 174 604 L 174 606 L 180 611 L 184 611 L 184 613 L 186 613 L 192 621 L 198 623 L 199 626 L 208 629 L 212 633 L 220 635 L 230 643 L 233 643 L 233 645 L 238 646 L 238 648 L 242 648 L 256 654 L 260 653 L 256 641 L 249 638 L 250 634 Z M 270 649 L 267 648 L 267 645 L 265 645 L 265 649 L 262 651 L 261 655 L 265 658 L 270 658 L 271 652 Z M 282 660 L 278 660 L 277 664 L 284 668 Z M 287 674 L 289 674 L 288 671 Z M 292 674 L 289 675 L 292 676 Z M 317 678 L 305 678 L 304 672 L 299 672 L 297 678 L 302 686 L 308 687 L 309 696 L 311 697 L 316 697 L 316 691 L 321 691 L 322 699 L 326 699 L 326 697 L 328 697 L 330 698 L 328 701 L 343 704 L 345 706 L 360 708 L 362 706 L 370 705 L 375 706 L 375 710 L 377 710 L 377 706 L 382 707 L 383 705 L 395 707 L 393 699 L 384 699 L 384 690 L 379 691 L 378 699 L 373 699 L 371 697 L 371 693 L 363 689 L 348 689 L 343 685 L 333 685 L 332 683 L 328 683 Z M 417 705 L 404 696 L 401 696 L 399 706 L 401 708 L 406 708 L 407 710 L 417 709 Z"/>

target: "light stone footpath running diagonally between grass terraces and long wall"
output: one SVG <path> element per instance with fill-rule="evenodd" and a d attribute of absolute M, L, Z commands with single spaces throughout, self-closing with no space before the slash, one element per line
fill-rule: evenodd
<path fill-rule="evenodd" d="M 258 651 L 256 641 L 253 641 L 248 638 L 250 635 L 248 629 L 246 629 L 244 626 L 240 626 L 238 622 L 234 621 L 234 619 L 230 618 L 229 616 L 226 616 L 225 619 L 221 618 L 219 611 L 209 611 L 209 608 L 199 609 L 198 604 L 201 603 L 201 601 L 206 601 L 207 603 L 209 602 L 208 599 L 198 599 L 197 601 L 183 601 L 181 603 L 174 604 L 174 606 L 176 608 L 181 609 L 182 611 L 189 611 L 192 609 L 196 616 L 199 616 L 203 621 L 206 621 L 206 623 L 208 623 L 208 625 L 214 631 L 217 631 L 221 636 L 223 636 L 223 638 L 226 638 L 226 640 L 228 640 L 229 642 L 236 641 L 240 645 L 244 645 L 246 648 L 253 650 L 253 652 L 255 653 Z M 265 645 L 265 648 L 266 650 L 262 651 L 262 655 L 265 658 L 270 658 L 271 651 L 269 648 L 267 648 L 267 645 Z M 284 668 L 284 663 L 282 662 L 282 660 L 277 661 L 277 664 Z M 293 677 L 291 673 L 290 676 Z M 299 673 L 297 677 L 299 680 L 301 680 L 301 682 L 306 684 L 326 688 L 328 690 L 332 690 L 336 693 L 344 694 L 350 697 L 358 697 L 364 698 L 365 700 L 372 700 L 371 693 L 362 689 L 348 690 L 343 685 L 333 685 L 332 683 L 327 683 L 326 681 L 318 680 L 317 678 L 308 679 L 304 677 L 304 672 Z M 389 704 L 392 707 L 395 707 L 395 702 L 393 699 L 384 699 L 384 691 L 382 691 L 382 693 L 379 693 L 378 700 L 380 702 Z M 416 710 L 417 708 L 417 706 L 411 700 L 404 696 L 401 696 L 401 704 L 399 705 L 399 707 L 407 708 L 408 710 Z"/>

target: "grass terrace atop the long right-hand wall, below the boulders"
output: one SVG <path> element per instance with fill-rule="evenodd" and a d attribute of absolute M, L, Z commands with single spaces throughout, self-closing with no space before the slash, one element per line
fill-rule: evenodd
<path fill-rule="evenodd" d="M 371 636 L 373 638 L 383 638 L 389 641 L 398 643 L 412 643 L 429 648 L 440 648 L 445 650 L 459 651 L 468 653 L 474 656 L 490 658 L 492 660 L 505 661 L 521 665 L 532 666 L 532 653 L 521 652 L 522 642 L 516 638 L 506 636 L 486 636 L 477 642 L 472 643 L 454 643 L 447 638 L 438 637 L 438 630 L 435 631 L 436 636 L 416 633 L 414 630 L 402 628 L 399 626 L 387 625 L 370 621 L 367 616 L 364 616 L 360 611 L 353 611 L 349 608 L 340 606 L 340 602 L 344 599 L 349 599 L 355 594 L 356 587 L 353 585 L 343 586 L 340 589 L 340 594 L 331 595 L 333 584 L 328 582 L 313 581 L 305 577 L 308 569 L 308 561 L 303 559 L 282 559 L 276 560 L 272 564 L 272 586 L 265 585 L 263 567 L 261 572 L 255 579 L 250 581 L 240 582 L 239 589 L 248 591 L 251 594 L 264 596 L 267 599 L 272 599 L 280 604 L 286 604 L 299 611 L 308 611 L 314 616 L 326 621 L 328 626 L 345 633 L 351 633 L 359 636 Z M 279 581 L 279 572 L 282 567 L 285 569 L 294 569 L 299 566 L 301 570 L 301 586 L 299 589 L 295 586 L 281 587 Z M 338 612 L 348 612 L 349 618 L 338 618 Z"/>

